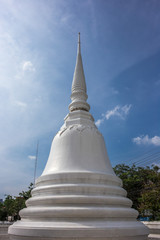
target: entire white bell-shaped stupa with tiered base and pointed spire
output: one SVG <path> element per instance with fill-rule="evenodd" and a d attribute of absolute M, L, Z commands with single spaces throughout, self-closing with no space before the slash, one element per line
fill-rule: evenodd
<path fill-rule="evenodd" d="M 148 229 L 110 164 L 102 134 L 86 102 L 80 50 L 64 125 L 54 137 L 42 175 L 11 240 L 146 240 Z"/>

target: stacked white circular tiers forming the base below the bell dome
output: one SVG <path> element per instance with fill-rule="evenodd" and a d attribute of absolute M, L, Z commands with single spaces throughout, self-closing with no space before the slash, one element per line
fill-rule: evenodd
<path fill-rule="evenodd" d="M 11 240 L 146 240 L 148 229 L 115 175 L 70 172 L 42 175 Z"/>

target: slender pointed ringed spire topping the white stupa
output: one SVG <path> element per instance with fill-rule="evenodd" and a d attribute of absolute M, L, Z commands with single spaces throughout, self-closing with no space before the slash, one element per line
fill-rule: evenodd
<path fill-rule="evenodd" d="M 83 70 L 80 33 L 78 34 L 77 60 L 73 75 L 72 89 L 71 89 L 71 104 L 69 105 L 70 112 L 75 110 L 89 111 L 90 106 L 86 102 L 87 88 Z"/>

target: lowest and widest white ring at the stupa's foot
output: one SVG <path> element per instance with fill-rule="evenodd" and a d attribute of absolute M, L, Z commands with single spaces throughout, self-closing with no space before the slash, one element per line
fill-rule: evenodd
<path fill-rule="evenodd" d="M 148 229 L 137 221 L 95 220 L 92 225 L 18 221 L 10 227 L 9 234 L 10 240 L 147 240 Z"/>

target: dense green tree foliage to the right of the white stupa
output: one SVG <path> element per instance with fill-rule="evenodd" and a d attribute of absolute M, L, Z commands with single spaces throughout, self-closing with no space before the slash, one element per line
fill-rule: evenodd
<path fill-rule="evenodd" d="M 123 181 L 127 197 L 133 201 L 133 208 L 141 216 L 150 216 L 151 220 L 160 220 L 160 168 L 129 167 L 116 165 L 114 171 Z"/>

